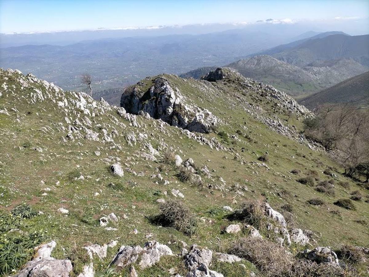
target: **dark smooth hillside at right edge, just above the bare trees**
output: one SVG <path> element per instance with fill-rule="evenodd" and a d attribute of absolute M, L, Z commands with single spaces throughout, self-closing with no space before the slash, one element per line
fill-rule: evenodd
<path fill-rule="evenodd" d="M 329 103 L 369 106 L 369 71 L 303 98 L 300 103 L 311 109 Z"/>

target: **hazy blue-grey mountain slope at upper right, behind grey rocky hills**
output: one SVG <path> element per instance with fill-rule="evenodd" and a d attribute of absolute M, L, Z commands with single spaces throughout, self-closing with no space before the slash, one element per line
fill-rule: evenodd
<path fill-rule="evenodd" d="M 336 34 L 307 40 L 296 47 L 274 53 L 273 57 L 299 67 L 316 61 L 341 58 L 352 58 L 362 65 L 369 66 L 369 35 Z"/>

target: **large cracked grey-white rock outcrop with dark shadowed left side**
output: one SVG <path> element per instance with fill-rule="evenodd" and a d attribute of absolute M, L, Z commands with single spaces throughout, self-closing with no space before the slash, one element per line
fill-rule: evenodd
<path fill-rule="evenodd" d="M 154 85 L 142 92 L 137 86 L 127 89 L 120 105 L 132 114 L 148 114 L 172 126 L 198 133 L 210 133 L 219 119 L 206 109 L 187 103 L 178 89 L 173 89 L 168 80 L 159 77 Z"/>

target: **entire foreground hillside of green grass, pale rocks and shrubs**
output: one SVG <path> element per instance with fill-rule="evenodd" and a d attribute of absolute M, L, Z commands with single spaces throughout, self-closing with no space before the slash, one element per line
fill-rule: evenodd
<path fill-rule="evenodd" d="M 162 74 L 113 107 L 18 70 L 0 84 L 1 274 L 348 276 L 342 244 L 368 252 L 367 186 L 272 86 Z M 352 191 L 363 200 L 338 206 Z"/>

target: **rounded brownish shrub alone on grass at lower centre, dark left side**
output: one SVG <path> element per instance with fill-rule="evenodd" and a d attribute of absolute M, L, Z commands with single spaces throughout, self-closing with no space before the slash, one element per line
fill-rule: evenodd
<path fill-rule="evenodd" d="M 175 228 L 188 236 L 195 233 L 196 219 L 182 202 L 167 201 L 160 205 L 160 211 L 161 213 L 155 218 L 156 223 Z"/>

